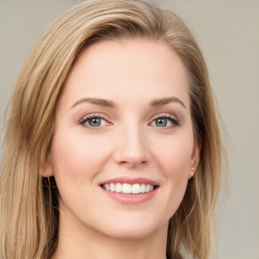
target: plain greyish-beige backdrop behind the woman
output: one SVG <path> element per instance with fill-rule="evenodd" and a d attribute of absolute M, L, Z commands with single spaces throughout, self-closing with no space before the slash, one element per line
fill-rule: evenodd
<path fill-rule="evenodd" d="M 34 42 L 76 2 L 0 0 L 0 126 Z M 219 258 L 259 259 L 259 1 L 158 2 L 197 35 L 229 133 L 230 188 L 217 213 Z"/>

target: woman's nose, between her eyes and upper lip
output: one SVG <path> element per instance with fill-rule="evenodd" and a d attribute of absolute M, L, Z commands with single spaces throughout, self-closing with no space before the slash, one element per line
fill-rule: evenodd
<path fill-rule="evenodd" d="M 150 152 L 145 130 L 139 125 L 124 126 L 116 136 L 114 159 L 118 164 L 136 167 L 150 160 Z"/>

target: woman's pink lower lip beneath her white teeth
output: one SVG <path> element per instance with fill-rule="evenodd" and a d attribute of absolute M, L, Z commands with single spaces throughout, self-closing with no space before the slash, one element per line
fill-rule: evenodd
<path fill-rule="evenodd" d="M 116 200 L 120 203 L 124 204 L 139 204 L 145 201 L 152 199 L 157 193 L 158 187 L 156 187 L 153 191 L 147 193 L 138 193 L 138 194 L 128 194 L 121 192 L 110 192 L 106 191 L 104 188 L 100 187 L 103 192 L 111 199 Z"/>

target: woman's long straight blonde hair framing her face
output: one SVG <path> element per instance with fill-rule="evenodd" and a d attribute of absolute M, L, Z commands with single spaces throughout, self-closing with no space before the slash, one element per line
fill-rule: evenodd
<path fill-rule="evenodd" d="M 207 259 L 219 196 L 224 148 L 196 40 L 183 21 L 142 0 L 83 2 L 58 18 L 38 39 L 11 99 L 1 165 L 1 242 L 4 259 L 50 258 L 58 241 L 58 191 L 40 168 L 49 152 L 55 105 L 80 49 L 97 40 L 144 37 L 165 42 L 184 63 L 200 162 L 184 199 L 169 221 L 167 256 Z M 200 139 L 200 141 L 199 141 Z M 201 141 L 202 140 L 202 141 Z"/>

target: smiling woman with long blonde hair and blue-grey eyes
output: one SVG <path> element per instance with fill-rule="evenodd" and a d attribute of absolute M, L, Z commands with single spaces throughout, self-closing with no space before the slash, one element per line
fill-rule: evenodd
<path fill-rule="evenodd" d="M 1 166 L 3 258 L 208 258 L 224 150 L 182 20 L 87 1 L 37 41 Z"/>

